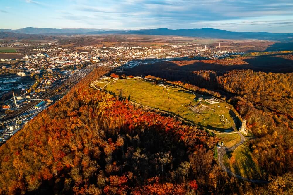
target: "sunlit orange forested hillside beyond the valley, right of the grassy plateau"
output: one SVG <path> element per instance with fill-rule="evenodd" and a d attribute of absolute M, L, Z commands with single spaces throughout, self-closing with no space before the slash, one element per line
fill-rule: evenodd
<path fill-rule="evenodd" d="M 293 118 L 293 73 L 233 70 L 218 77 L 224 90 Z"/>

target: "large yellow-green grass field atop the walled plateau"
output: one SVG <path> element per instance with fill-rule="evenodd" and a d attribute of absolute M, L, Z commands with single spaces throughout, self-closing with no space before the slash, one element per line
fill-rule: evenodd
<path fill-rule="evenodd" d="M 104 86 L 103 83 L 95 84 L 99 87 L 102 87 L 101 85 Z M 113 81 L 104 90 L 125 98 L 130 97 L 130 100 L 145 106 L 171 112 L 208 129 L 216 128 L 218 131 L 224 131 L 232 129 L 231 127 L 234 125 L 226 103 L 211 105 L 205 101 L 199 102 L 197 100 L 199 97 L 205 99 L 211 97 L 191 93 L 170 85 L 166 85 L 164 88 L 152 84 L 151 81 L 134 78 Z M 192 108 L 193 110 L 191 110 Z M 230 123 L 223 124 L 220 121 L 220 115 L 223 115 Z"/>

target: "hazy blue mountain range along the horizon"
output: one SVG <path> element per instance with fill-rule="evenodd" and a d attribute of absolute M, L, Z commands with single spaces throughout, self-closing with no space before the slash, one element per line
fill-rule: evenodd
<path fill-rule="evenodd" d="M 97 35 L 97 34 L 120 34 L 120 35 L 176 35 L 202 38 L 222 38 L 222 39 L 260 39 L 292 41 L 293 33 L 268 33 L 268 32 L 233 32 L 214 28 L 194 28 L 194 29 L 141 29 L 141 30 L 120 30 L 120 29 L 96 29 L 96 28 L 33 28 L 21 29 L 0 29 L 0 32 L 24 33 L 37 35 Z"/>

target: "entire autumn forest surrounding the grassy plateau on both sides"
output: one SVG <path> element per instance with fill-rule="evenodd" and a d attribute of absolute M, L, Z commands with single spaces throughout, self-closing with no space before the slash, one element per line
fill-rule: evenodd
<path fill-rule="evenodd" d="M 0 194 L 292 194 L 292 54 L 271 55 L 171 61 L 117 73 L 229 102 L 253 134 L 245 144 L 267 184 L 222 171 L 214 157 L 219 140 L 200 126 L 91 88 L 114 73 L 100 67 L 0 147 Z M 272 57 L 286 67 L 269 71 L 279 66 L 272 63 L 259 71 Z"/>

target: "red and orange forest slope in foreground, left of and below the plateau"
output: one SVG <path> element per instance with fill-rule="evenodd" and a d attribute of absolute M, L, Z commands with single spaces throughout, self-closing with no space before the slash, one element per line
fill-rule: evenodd
<path fill-rule="evenodd" d="M 107 72 L 93 71 L 0 147 L 1 194 L 239 191 L 213 158 L 214 137 L 89 88 Z"/>

